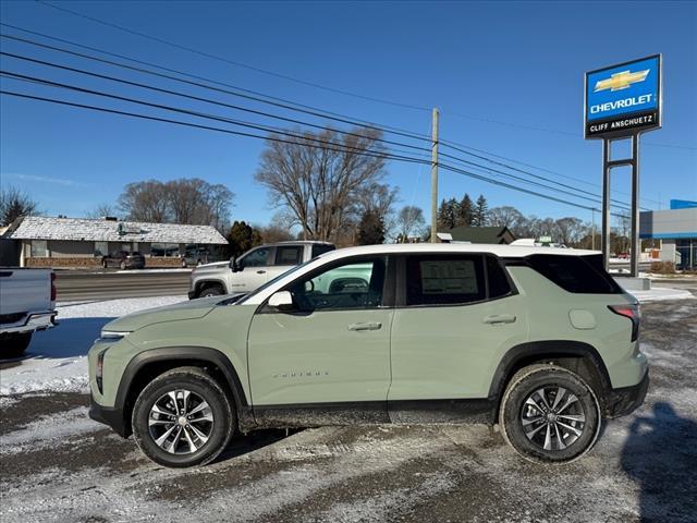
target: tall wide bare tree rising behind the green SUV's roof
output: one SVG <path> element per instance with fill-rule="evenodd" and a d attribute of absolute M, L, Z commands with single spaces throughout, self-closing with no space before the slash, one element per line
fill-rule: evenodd
<path fill-rule="evenodd" d="M 269 190 L 273 205 L 293 214 L 304 238 L 335 239 L 345 220 L 360 208 L 360 198 L 384 175 L 384 150 L 377 141 L 380 132 L 353 132 L 298 130 L 302 137 L 267 142 L 256 180 Z M 318 148 L 320 143 L 330 145 Z"/>

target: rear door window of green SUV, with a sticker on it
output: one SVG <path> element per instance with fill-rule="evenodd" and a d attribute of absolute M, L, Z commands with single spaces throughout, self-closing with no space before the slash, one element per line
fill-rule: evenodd
<path fill-rule="evenodd" d="M 406 305 L 452 305 L 486 297 L 482 256 L 411 256 Z"/>

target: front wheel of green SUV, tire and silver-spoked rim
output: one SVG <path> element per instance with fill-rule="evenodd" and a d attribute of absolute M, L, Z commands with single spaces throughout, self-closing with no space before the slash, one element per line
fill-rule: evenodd
<path fill-rule="evenodd" d="M 220 385 L 198 367 L 169 370 L 148 384 L 133 409 L 140 450 L 164 466 L 204 465 L 222 452 L 235 427 Z"/>

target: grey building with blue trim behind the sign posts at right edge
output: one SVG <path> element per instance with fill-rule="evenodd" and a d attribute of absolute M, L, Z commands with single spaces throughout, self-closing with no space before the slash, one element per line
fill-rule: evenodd
<path fill-rule="evenodd" d="M 677 269 L 697 269 L 697 202 L 671 199 L 670 209 L 641 212 L 639 236 L 657 240 L 661 259 Z"/>

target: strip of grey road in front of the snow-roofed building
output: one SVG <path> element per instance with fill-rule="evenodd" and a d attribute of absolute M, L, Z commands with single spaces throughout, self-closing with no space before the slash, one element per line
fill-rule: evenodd
<path fill-rule="evenodd" d="M 56 271 L 61 302 L 182 295 L 188 292 L 191 270 Z"/>

